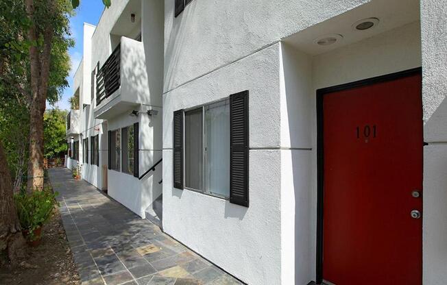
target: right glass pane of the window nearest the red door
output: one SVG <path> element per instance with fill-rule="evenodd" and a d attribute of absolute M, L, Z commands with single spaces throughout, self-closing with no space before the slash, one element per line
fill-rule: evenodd
<path fill-rule="evenodd" d="M 205 108 L 206 192 L 230 197 L 230 101 Z"/>

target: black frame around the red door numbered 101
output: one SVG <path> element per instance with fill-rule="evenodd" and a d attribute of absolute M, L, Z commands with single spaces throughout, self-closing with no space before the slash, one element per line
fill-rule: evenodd
<path fill-rule="evenodd" d="M 323 204 L 324 204 L 324 141 L 323 141 L 323 100 L 324 95 L 361 86 L 368 86 L 380 82 L 389 82 L 411 75 L 421 75 L 422 67 L 415 69 L 408 69 L 387 75 L 380 75 L 377 77 L 362 79 L 356 82 L 350 82 L 337 86 L 317 89 L 317 267 L 316 267 L 316 282 L 322 284 L 323 282 Z M 421 85 L 422 86 L 422 85 Z M 422 95 L 422 90 L 421 90 Z M 422 108 L 422 106 L 421 106 Z M 422 118 L 421 118 L 422 119 Z M 423 127 L 423 123 L 421 123 Z M 423 146 L 421 142 L 421 147 Z M 421 256 L 422 258 L 422 256 Z"/>

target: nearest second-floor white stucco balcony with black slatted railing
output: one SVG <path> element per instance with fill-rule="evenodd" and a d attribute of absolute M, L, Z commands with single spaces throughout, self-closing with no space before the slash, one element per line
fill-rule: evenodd
<path fill-rule="evenodd" d="M 95 118 L 110 119 L 149 97 L 143 43 L 124 36 L 96 75 Z"/>

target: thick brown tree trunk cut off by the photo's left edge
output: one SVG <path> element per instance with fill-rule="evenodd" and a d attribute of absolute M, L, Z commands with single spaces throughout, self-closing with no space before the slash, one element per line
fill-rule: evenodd
<path fill-rule="evenodd" d="M 0 265 L 16 261 L 24 256 L 25 240 L 20 232 L 8 162 L 0 141 Z"/>

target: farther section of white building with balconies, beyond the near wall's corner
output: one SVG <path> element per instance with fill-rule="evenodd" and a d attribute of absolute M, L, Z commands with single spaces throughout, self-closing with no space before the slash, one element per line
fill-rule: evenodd
<path fill-rule="evenodd" d="M 82 165 L 82 179 L 142 218 L 158 219 L 154 201 L 162 194 L 161 136 L 154 135 L 162 124 L 162 45 L 160 1 L 116 1 L 97 27 L 85 23 L 74 79 L 80 110 L 70 112 L 79 126 L 67 130 L 68 167 Z"/>

